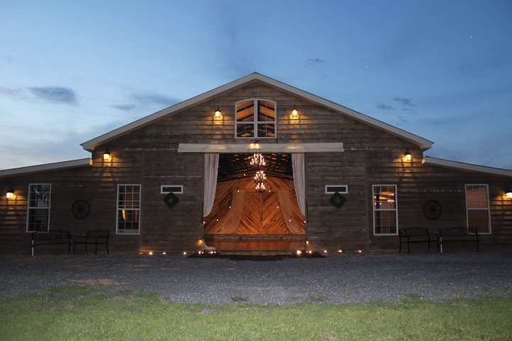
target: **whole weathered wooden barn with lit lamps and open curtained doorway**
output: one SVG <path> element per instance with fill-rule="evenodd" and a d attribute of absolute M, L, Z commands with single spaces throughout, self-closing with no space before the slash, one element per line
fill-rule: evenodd
<path fill-rule="evenodd" d="M 111 251 L 397 250 L 402 228 L 469 227 L 511 247 L 512 171 L 431 146 L 252 73 L 84 142 L 91 158 L 0 171 L 0 246 L 104 229 Z"/>

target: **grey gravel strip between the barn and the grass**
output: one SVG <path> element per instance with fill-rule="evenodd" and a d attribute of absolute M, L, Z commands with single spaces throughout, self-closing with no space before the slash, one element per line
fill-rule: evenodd
<path fill-rule="evenodd" d="M 169 255 L 40 255 L 0 259 L 0 297 L 50 286 L 147 291 L 186 303 L 294 304 L 512 297 L 512 252 L 330 254 L 233 261 Z"/>

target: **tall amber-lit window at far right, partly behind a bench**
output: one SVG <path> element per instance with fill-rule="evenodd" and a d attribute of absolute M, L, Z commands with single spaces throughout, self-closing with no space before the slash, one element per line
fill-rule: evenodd
<path fill-rule="evenodd" d="M 488 185 L 466 185 L 466 215 L 468 227 L 491 233 Z"/>

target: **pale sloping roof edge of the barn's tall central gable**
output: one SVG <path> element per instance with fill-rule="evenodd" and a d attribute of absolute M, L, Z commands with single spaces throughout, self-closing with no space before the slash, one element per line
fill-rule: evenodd
<path fill-rule="evenodd" d="M 146 124 L 150 124 L 158 119 L 161 119 L 162 117 L 174 114 L 176 112 L 180 112 L 183 109 L 192 107 L 193 105 L 199 104 L 201 102 L 205 102 L 206 100 L 211 99 L 212 97 L 218 96 L 219 94 L 221 94 L 223 92 L 234 90 L 237 87 L 241 87 L 242 85 L 245 85 L 245 84 L 255 81 L 255 80 L 259 80 L 260 82 L 266 83 L 267 85 L 271 85 L 272 87 L 277 87 L 278 89 L 290 92 L 299 97 L 303 97 L 304 99 L 308 99 L 311 102 L 320 104 L 329 109 L 333 109 L 334 111 L 340 112 L 341 114 L 345 114 L 348 117 L 352 117 L 353 119 L 356 119 L 358 121 L 364 122 L 366 124 L 370 124 L 371 126 L 375 126 L 375 128 L 382 129 L 384 131 L 388 131 L 390 134 L 393 134 L 395 136 L 398 136 L 398 137 L 401 137 L 408 141 L 411 141 L 411 142 L 419 145 L 423 149 L 428 149 L 428 148 L 432 147 L 432 144 L 433 144 L 432 141 L 423 139 L 420 136 L 411 134 L 402 129 L 398 129 L 397 127 L 391 126 L 390 124 L 386 124 L 383 121 L 379 121 L 378 119 L 373 119 L 372 117 L 361 114 L 360 112 L 356 112 L 352 109 L 348 109 L 339 104 L 331 102 L 327 99 L 318 97 L 314 94 L 310 94 L 309 92 L 305 92 L 304 90 L 297 89 L 297 87 L 292 87 L 291 85 L 284 84 L 283 82 L 279 82 L 278 80 L 274 80 L 270 77 L 261 75 L 257 72 L 252 72 L 250 75 L 242 77 L 238 80 L 234 80 L 233 82 L 229 82 L 229 83 L 222 85 L 220 87 L 217 87 L 213 90 L 210 90 L 203 94 L 199 94 L 196 97 L 192 97 L 191 99 L 187 99 L 186 101 L 175 104 L 172 107 L 163 109 L 159 112 L 155 112 L 154 114 L 143 117 L 142 119 L 138 119 L 137 121 L 134 121 L 130 124 L 127 124 L 120 128 L 109 131 L 106 134 L 97 136 L 95 139 L 85 141 L 83 144 L 81 144 L 81 146 L 87 151 L 92 151 L 96 146 L 99 146 L 100 144 L 104 144 L 106 141 L 114 139 L 123 134 L 127 134 L 130 131 L 134 131 L 135 129 L 145 126 Z"/>

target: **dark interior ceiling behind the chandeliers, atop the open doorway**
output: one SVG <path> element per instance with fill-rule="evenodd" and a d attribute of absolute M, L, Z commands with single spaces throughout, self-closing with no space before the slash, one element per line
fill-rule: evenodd
<path fill-rule="evenodd" d="M 217 181 L 248 178 L 255 175 L 250 168 L 249 157 L 252 154 L 220 154 Z M 282 153 L 263 154 L 265 158 L 265 174 L 287 180 L 293 180 L 292 155 Z"/>

